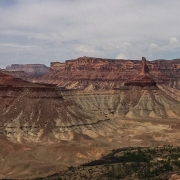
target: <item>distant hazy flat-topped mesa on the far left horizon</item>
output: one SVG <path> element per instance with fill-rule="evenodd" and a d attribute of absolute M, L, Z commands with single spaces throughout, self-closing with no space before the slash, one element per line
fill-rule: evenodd
<path fill-rule="evenodd" d="M 11 73 L 12 76 L 13 74 L 15 76 L 16 74 L 18 74 L 18 73 L 14 73 L 14 71 L 21 73 L 19 74 L 19 77 L 20 76 L 24 77 L 22 71 L 32 76 L 42 76 L 49 72 L 49 67 L 43 64 L 12 64 L 11 66 L 7 66 L 6 70 L 8 71 L 8 73 L 11 73 L 11 71 L 13 71 Z"/>

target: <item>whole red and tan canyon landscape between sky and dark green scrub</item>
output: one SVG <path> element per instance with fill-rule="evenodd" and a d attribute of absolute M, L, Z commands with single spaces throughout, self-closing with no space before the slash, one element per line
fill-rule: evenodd
<path fill-rule="evenodd" d="M 121 147 L 179 145 L 180 59 L 81 57 L 44 75 L 8 73 L 0 178 L 47 176 Z"/>

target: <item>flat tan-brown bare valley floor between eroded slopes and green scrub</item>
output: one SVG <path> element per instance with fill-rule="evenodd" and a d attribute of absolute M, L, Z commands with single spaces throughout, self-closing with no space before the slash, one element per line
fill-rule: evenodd
<path fill-rule="evenodd" d="M 0 178 L 37 178 L 64 171 L 101 158 L 112 149 L 180 145 L 180 122 L 177 119 L 139 119 L 109 122 L 112 131 L 96 138 L 74 133 L 71 141 L 12 142 L 0 136 Z"/>

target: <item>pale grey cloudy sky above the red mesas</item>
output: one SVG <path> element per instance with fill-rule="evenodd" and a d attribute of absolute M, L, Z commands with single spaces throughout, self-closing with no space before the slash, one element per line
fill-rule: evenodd
<path fill-rule="evenodd" d="M 0 68 L 180 58 L 179 13 L 179 0 L 0 0 Z"/>

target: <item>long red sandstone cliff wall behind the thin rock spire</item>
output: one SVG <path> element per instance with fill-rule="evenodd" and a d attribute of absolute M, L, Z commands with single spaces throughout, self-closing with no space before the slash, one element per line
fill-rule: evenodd
<path fill-rule="evenodd" d="M 147 61 L 147 66 L 156 83 L 180 89 L 180 59 Z M 49 74 L 33 80 L 67 89 L 102 90 L 119 88 L 140 71 L 139 60 L 81 57 L 65 63 L 53 62 Z"/>

